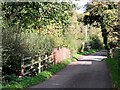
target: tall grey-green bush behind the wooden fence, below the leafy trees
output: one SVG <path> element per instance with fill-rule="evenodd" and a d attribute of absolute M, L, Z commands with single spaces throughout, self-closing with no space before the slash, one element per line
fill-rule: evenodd
<path fill-rule="evenodd" d="M 22 32 L 16 27 L 4 28 L 2 41 L 3 75 L 19 75 L 22 58 L 50 54 L 55 45 L 45 33 Z"/>

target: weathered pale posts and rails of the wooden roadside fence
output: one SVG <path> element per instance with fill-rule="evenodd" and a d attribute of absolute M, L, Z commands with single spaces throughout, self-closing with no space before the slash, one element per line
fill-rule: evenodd
<path fill-rule="evenodd" d="M 33 58 L 33 57 L 23 58 L 23 59 L 21 60 L 21 74 L 22 74 L 23 76 L 25 76 L 25 75 L 27 75 L 27 74 L 31 74 L 31 76 L 34 75 L 34 73 L 32 73 L 32 72 L 36 71 L 36 70 L 34 69 L 34 65 L 35 65 L 35 64 L 38 65 L 38 73 L 42 72 L 42 68 L 43 68 L 43 69 L 46 69 L 46 68 L 49 66 L 49 64 L 51 64 L 51 62 L 52 62 L 53 64 L 56 64 L 55 56 L 56 56 L 56 52 L 54 52 L 53 55 L 51 55 L 51 56 L 49 56 L 49 57 L 48 57 L 47 55 L 45 55 L 45 58 L 44 58 L 43 60 L 41 60 L 41 57 L 40 57 L 40 56 L 37 56 L 38 61 L 36 61 L 36 62 L 34 62 L 34 58 Z M 49 61 L 49 59 L 52 59 L 52 61 Z M 26 65 L 26 64 L 25 64 L 25 61 L 27 61 L 27 60 L 31 60 L 31 63 Z M 43 65 L 42 65 L 42 61 L 44 61 Z M 25 64 L 25 65 L 24 65 L 24 64 Z M 27 67 L 30 67 L 30 68 L 29 68 L 29 70 L 27 70 L 27 72 L 25 72 L 25 68 L 27 68 Z M 44 68 L 44 67 L 45 67 L 45 68 Z"/>

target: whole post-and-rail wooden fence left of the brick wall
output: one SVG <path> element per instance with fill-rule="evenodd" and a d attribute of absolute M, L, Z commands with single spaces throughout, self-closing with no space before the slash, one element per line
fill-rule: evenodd
<path fill-rule="evenodd" d="M 42 57 L 43 56 L 43 57 Z M 47 55 L 35 55 L 34 57 L 26 57 L 21 62 L 21 74 L 23 76 L 31 74 L 32 72 L 40 73 L 44 71 L 48 66 L 55 64 L 55 54 Z M 30 63 L 25 64 L 29 61 Z M 37 68 L 34 67 L 36 65 Z M 25 69 L 28 68 L 26 71 Z M 44 68 L 44 70 L 42 70 Z"/>

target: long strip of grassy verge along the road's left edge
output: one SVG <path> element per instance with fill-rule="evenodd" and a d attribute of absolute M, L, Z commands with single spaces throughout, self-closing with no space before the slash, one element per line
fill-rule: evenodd
<path fill-rule="evenodd" d="M 47 70 L 41 72 L 40 74 L 38 74 L 34 77 L 23 77 L 22 79 L 19 79 L 17 77 L 16 81 L 8 82 L 8 84 L 6 86 L 2 86 L 2 88 L 3 89 L 11 88 L 12 90 L 15 89 L 15 88 L 21 88 L 21 89 L 22 88 L 28 88 L 32 85 L 38 84 L 38 83 L 40 83 L 40 82 L 42 82 L 46 79 L 49 79 L 52 75 L 59 72 L 62 68 L 64 68 L 70 62 L 77 61 L 77 58 L 80 55 L 91 54 L 91 53 L 94 53 L 96 51 L 98 51 L 98 50 L 94 49 L 94 50 L 90 50 L 90 51 L 85 51 L 83 53 L 75 54 L 73 56 L 73 58 L 67 58 L 65 60 L 61 60 L 60 63 L 48 67 Z"/>

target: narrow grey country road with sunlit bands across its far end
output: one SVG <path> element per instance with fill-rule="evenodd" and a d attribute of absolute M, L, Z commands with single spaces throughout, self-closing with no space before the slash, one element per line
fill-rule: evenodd
<path fill-rule="evenodd" d="M 29 88 L 112 88 L 105 50 L 80 56 L 50 79 Z M 28 89 L 29 89 L 28 88 Z"/>

